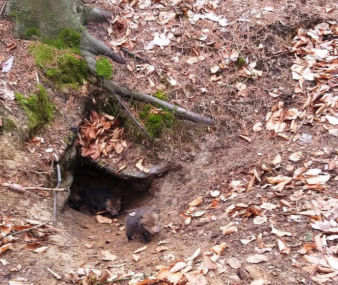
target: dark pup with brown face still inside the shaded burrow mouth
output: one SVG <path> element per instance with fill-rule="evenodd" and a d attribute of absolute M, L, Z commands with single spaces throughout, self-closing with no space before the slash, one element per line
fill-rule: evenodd
<path fill-rule="evenodd" d="M 94 213 L 107 210 L 112 216 L 117 216 L 121 211 L 121 198 L 117 198 L 107 189 L 86 188 L 83 193 Z"/>

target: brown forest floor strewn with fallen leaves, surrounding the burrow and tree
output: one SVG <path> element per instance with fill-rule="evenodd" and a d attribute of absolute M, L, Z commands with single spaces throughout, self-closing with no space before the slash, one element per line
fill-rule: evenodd
<path fill-rule="evenodd" d="M 128 212 L 99 223 L 65 204 L 53 223 L 51 193 L 0 188 L 0 284 L 66 284 L 83 276 L 86 284 L 93 274 L 115 284 L 336 284 L 336 1 L 91 4 L 117 17 L 88 31 L 149 62 L 126 56 L 127 65 L 114 64 L 116 82 L 149 94 L 164 90 L 171 102 L 212 116 L 215 126 L 184 121 L 154 145 L 124 137 L 128 154 L 109 160 L 135 171 L 143 157 L 148 168 L 173 165 L 124 207 L 161 210 L 161 233 L 138 253 L 143 241 L 128 242 L 123 231 Z M 31 42 L 14 39 L 12 29 L 2 16 L 0 64 L 12 55 L 14 63 L 0 71 L 0 106 L 19 126 L 26 119 L 13 92 L 32 94 L 43 74 Z M 48 91 L 58 116 L 37 135 L 43 139 L 0 134 L 1 183 L 43 187 L 55 179 L 52 165 L 91 90 Z M 59 205 L 67 195 L 59 194 Z"/>

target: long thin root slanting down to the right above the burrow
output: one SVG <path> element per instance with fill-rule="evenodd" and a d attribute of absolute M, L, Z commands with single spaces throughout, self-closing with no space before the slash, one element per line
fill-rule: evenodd
<path fill-rule="evenodd" d="M 87 50 L 81 50 L 81 53 L 83 55 L 83 57 L 86 59 L 87 63 L 88 63 L 88 67 L 89 67 L 89 71 L 96 76 L 96 63 L 95 63 L 95 59 L 94 59 L 94 55 L 91 54 L 90 52 L 88 52 Z M 196 123 L 200 123 L 200 124 L 207 124 L 207 125 L 213 125 L 214 121 L 212 118 L 208 118 L 208 117 L 203 117 L 201 115 L 199 115 L 198 113 L 189 111 L 183 107 L 180 107 L 178 105 L 174 105 L 171 104 L 169 102 L 160 100 L 154 96 L 151 96 L 149 94 L 145 94 L 145 93 L 140 93 L 140 92 L 133 92 L 127 88 L 124 88 L 122 86 L 120 86 L 119 84 L 115 83 L 112 80 L 107 80 L 107 79 L 103 79 L 102 80 L 102 86 L 104 86 L 108 91 L 110 91 L 111 93 L 115 94 L 120 94 L 123 96 L 127 96 L 130 97 L 132 99 L 136 99 L 138 101 L 143 101 L 143 102 L 149 102 L 152 103 L 154 105 L 160 105 L 164 108 L 170 109 L 171 111 L 173 111 L 174 115 L 178 115 L 181 116 L 189 121 L 192 122 L 196 122 Z"/>

